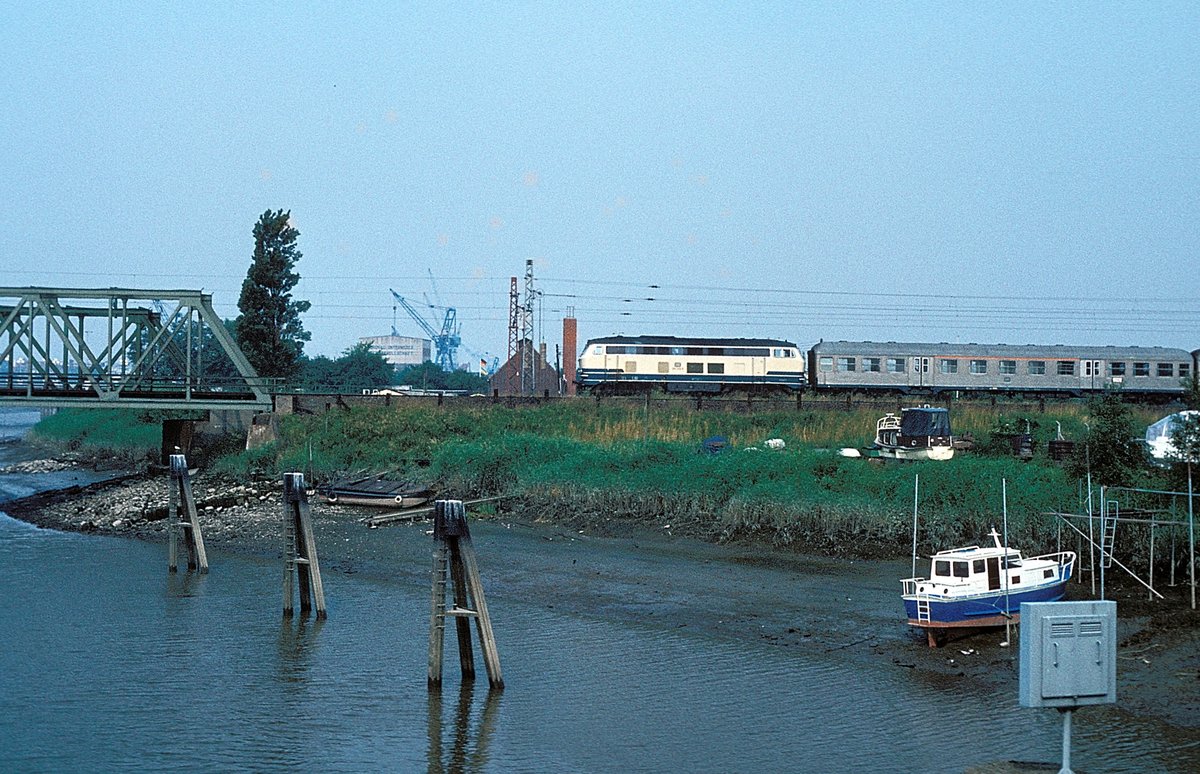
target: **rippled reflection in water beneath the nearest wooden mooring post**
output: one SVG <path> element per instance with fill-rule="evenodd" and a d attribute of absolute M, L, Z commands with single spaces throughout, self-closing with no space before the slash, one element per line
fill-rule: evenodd
<path fill-rule="evenodd" d="M 482 707 L 474 722 L 475 685 L 464 682 L 458 688 L 458 701 L 455 702 L 452 725 L 443 728 L 446 713 L 440 690 L 430 691 L 428 704 L 428 770 L 431 774 L 460 774 L 461 772 L 480 772 L 487 764 L 487 745 L 496 727 L 496 715 L 500 704 L 500 691 L 488 690 L 484 694 Z M 446 739 L 445 737 L 450 737 Z M 449 745 L 449 750 L 444 749 Z"/>

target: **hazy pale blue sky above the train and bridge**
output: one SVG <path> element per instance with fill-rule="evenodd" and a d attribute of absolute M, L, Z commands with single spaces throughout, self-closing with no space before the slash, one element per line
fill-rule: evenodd
<path fill-rule="evenodd" d="M 0 0 L 0 286 L 462 324 L 1200 347 L 1200 4 Z M 431 306 L 432 305 L 432 306 Z"/>

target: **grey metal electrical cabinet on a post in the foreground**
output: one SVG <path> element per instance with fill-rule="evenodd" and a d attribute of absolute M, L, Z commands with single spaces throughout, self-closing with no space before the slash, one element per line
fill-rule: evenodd
<path fill-rule="evenodd" d="M 1117 700 L 1117 604 L 1022 602 L 1022 707 L 1069 709 Z"/>

